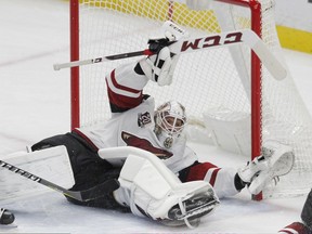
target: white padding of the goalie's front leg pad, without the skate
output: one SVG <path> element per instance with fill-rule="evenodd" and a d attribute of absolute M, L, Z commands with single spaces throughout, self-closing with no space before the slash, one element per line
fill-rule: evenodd
<path fill-rule="evenodd" d="M 181 183 L 155 155 L 138 148 L 134 151 L 138 154 L 128 155 L 118 179 L 120 188 L 114 193 L 116 199 L 129 206 L 134 214 L 168 220 L 173 206 L 197 194 L 213 199 L 214 206 L 219 203 L 208 182 Z"/>

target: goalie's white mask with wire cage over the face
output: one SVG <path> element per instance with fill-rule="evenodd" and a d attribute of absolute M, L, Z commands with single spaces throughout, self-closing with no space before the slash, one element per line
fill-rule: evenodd
<path fill-rule="evenodd" d="M 155 112 L 155 133 L 166 148 L 172 146 L 185 125 L 185 108 L 176 101 L 166 102 Z"/>

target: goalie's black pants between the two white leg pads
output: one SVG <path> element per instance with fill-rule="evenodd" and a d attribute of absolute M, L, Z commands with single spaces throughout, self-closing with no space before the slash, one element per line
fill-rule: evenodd
<path fill-rule="evenodd" d="M 100 158 L 98 148 L 89 144 L 75 132 L 60 134 L 44 139 L 31 146 L 32 151 L 40 151 L 48 147 L 65 145 L 68 152 L 75 184 L 72 191 L 82 191 L 101 184 L 109 179 L 118 179 L 121 168 L 114 168 L 108 161 Z M 130 209 L 119 205 L 113 192 L 105 192 L 103 197 L 89 202 L 79 202 L 66 197 L 70 203 L 82 206 L 115 209 L 122 212 L 130 212 Z"/>

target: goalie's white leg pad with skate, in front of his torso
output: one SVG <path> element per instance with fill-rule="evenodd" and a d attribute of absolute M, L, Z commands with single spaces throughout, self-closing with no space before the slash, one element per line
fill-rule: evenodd
<path fill-rule="evenodd" d="M 198 224 L 219 204 L 208 182 L 181 183 L 154 155 L 129 155 L 118 180 L 114 195 L 119 204 L 167 225 Z"/>

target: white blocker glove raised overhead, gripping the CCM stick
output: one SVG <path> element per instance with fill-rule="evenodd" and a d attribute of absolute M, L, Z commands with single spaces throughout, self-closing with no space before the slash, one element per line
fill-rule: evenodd
<path fill-rule="evenodd" d="M 170 31 L 165 31 L 162 38 L 150 39 L 150 51 L 155 54 L 139 62 L 145 76 L 161 87 L 171 84 L 179 60 L 179 56 L 172 55 L 168 48 L 174 40 L 176 36 Z"/>

